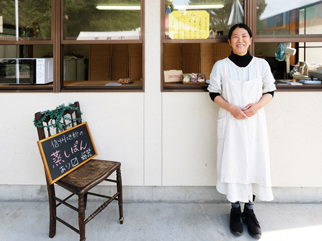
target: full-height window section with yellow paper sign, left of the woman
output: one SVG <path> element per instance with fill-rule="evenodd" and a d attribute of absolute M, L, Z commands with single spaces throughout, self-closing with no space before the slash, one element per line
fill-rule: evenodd
<path fill-rule="evenodd" d="M 162 69 L 200 73 L 209 79 L 217 60 L 230 55 L 227 43 L 229 27 L 244 22 L 244 1 L 173 0 L 162 1 Z M 166 82 L 162 90 L 205 90 L 207 84 Z"/>

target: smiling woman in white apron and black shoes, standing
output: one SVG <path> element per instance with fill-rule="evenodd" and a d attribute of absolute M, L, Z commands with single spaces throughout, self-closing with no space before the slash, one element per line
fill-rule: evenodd
<path fill-rule="evenodd" d="M 229 30 L 231 55 L 217 61 L 208 90 L 219 105 L 217 126 L 217 185 L 231 202 L 230 231 L 242 235 L 243 218 L 248 232 L 262 235 L 254 213 L 255 195 L 273 200 L 266 116 L 263 107 L 274 95 L 275 79 L 269 64 L 250 55 L 252 31 L 245 24 Z M 245 202 L 241 213 L 239 201 Z"/>

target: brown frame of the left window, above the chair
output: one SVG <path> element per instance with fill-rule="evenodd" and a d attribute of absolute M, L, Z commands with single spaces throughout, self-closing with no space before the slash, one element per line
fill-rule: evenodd
<path fill-rule="evenodd" d="M 0 45 L 52 45 L 53 82 L 46 85 L 0 85 L 0 92 L 144 92 L 144 0 L 140 0 L 140 39 L 138 40 L 64 40 L 63 0 L 51 0 L 51 40 L 0 40 Z M 63 46 L 87 44 L 141 44 L 142 85 L 63 86 Z"/>

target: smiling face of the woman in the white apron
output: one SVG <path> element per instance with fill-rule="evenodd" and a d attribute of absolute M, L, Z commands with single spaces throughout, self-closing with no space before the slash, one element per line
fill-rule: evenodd
<path fill-rule="evenodd" d="M 252 43 L 252 38 L 246 29 L 236 28 L 232 31 L 232 35 L 230 39 L 228 39 L 228 43 L 234 54 L 245 55 L 247 54 L 248 47 Z"/>

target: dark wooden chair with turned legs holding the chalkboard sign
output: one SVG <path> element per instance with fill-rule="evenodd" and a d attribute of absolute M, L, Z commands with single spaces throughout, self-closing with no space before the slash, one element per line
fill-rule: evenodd
<path fill-rule="evenodd" d="M 78 107 L 79 103 L 74 102 L 71 106 Z M 75 110 L 66 110 L 64 111 L 64 115 L 70 115 L 73 118 L 80 118 L 78 112 Z M 37 112 L 35 113 L 35 121 L 39 122 L 39 120 L 44 116 L 44 113 Z M 50 117 L 47 117 L 43 123 L 50 122 Z M 71 126 L 75 126 L 81 124 L 81 122 L 71 123 Z M 42 124 L 41 124 L 42 125 Z M 49 128 L 47 129 L 47 136 L 45 134 L 44 128 L 37 128 L 39 140 L 47 138 L 51 136 L 51 131 Z M 56 133 L 57 130 L 56 130 Z M 116 180 L 108 179 L 109 176 L 116 172 Z M 103 181 L 109 181 L 116 183 L 117 192 L 113 196 L 105 196 L 102 194 L 92 193 L 90 190 Z M 80 236 L 80 240 L 85 240 L 85 224 L 92 220 L 98 213 L 100 213 L 105 207 L 107 207 L 113 200 L 118 201 L 119 205 L 119 214 L 120 214 L 120 223 L 123 223 L 123 201 L 122 201 L 122 178 L 121 178 L 121 163 L 112 162 L 112 161 L 103 161 L 103 160 L 95 160 L 92 159 L 82 165 L 81 167 L 75 169 L 70 172 L 66 176 L 62 177 L 55 184 L 65 188 L 70 191 L 71 194 L 64 199 L 58 198 L 55 195 L 55 185 L 50 184 L 46 178 L 47 182 L 47 190 L 49 197 L 49 211 L 50 211 L 50 223 L 49 223 L 49 237 L 54 237 L 56 234 L 56 220 L 63 223 L 67 227 L 71 228 L 75 232 L 77 232 Z M 72 197 L 73 195 L 78 196 L 78 207 L 74 207 L 66 201 Z M 107 198 L 105 201 L 95 212 L 93 212 L 87 219 L 85 219 L 85 210 L 87 204 L 87 196 L 95 195 L 103 198 Z M 78 212 L 78 226 L 79 229 L 73 227 L 66 221 L 59 218 L 56 214 L 56 208 L 60 205 L 64 204 L 67 207 Z"/>

